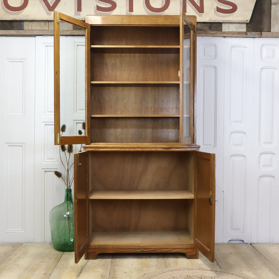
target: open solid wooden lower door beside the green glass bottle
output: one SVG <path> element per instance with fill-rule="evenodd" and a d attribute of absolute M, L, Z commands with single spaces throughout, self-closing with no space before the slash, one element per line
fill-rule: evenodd
<path fill-rule="evenodd" d="M 88 151 L 74 154 L 75 263 L 89 247 Z"/>

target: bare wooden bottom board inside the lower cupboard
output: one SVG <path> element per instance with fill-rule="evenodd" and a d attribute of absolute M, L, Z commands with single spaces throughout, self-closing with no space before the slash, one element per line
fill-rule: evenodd
<path fill-rule="evenodd" d="M 92 232 L 94 245 L 191 245 L 188 232 Z"/>

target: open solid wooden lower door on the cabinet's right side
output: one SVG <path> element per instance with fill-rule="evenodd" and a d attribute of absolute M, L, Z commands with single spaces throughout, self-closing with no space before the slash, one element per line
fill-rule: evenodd
<path fill-rule="evenodd" d="M 196 152 L 194 246 L 214 262 L 215 154 Z"/>

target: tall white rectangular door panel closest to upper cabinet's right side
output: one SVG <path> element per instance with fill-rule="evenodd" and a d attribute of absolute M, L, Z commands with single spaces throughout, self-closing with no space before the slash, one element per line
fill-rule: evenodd
<path fill-rule="evenodd" d="M 213 51 L 212 51 L 213 54 Z M 215 66 L 203 67 L 203 141 L 205 147 L 216 146 L 216 92 L 217 69 Z"/>

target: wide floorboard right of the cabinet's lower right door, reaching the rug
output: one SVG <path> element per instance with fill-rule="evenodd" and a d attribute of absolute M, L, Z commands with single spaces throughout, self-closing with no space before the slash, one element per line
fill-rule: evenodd
<path fill-rule="evenodd" d="M 238 271 L 257 279 L 278 279 L 279 272 L 250 244 L 215 244 L 215 260 L 221 269 Z"/>

